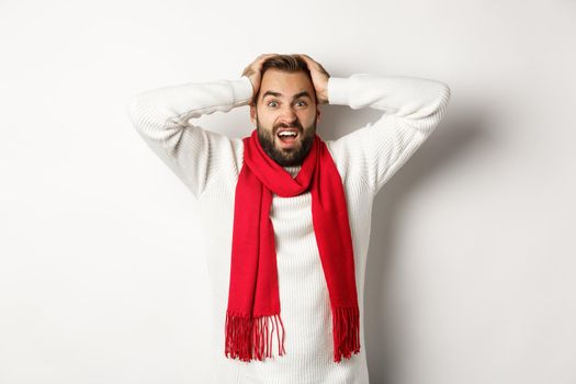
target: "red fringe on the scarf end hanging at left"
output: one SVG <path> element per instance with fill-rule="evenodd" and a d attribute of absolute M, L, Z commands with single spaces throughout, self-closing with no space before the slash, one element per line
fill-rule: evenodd
<path fill-rule="evenodd" d="M 272 337 L 276 334 L 278 353 L 283 355 L 284 325 L 280 315 L 249 317 L 226 312 L 227 358 L 241 361 L 272 358 Z"/>

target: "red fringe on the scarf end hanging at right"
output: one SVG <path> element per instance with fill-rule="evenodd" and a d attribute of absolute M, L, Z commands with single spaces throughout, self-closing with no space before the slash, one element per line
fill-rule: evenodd
<path fill-rule="evenodd" d="M 334 361 L 350 359 L 360 352 L 360 315 L 358 307 L 332 308 Z"/>

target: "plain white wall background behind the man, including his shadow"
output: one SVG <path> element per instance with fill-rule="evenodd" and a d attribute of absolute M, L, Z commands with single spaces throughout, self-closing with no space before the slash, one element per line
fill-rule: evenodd
<path fill-rule="evenodd" d="M 574 383 L 575 20 L 573 0 L 0 1 L 0 383 L 210 380 L 196 203 L 126 103 L 262 53 L 452 89 L 375 202 L 371 383 Z M 380 116 L 324 113 L 325 139 Z M 251 131 L 247 106 L 202 124 Z"/>

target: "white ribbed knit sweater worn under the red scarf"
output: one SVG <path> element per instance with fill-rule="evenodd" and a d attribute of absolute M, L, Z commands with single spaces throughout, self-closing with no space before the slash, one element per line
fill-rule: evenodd
<path fill-rule="evenodd" d="M 383 111 L 374 123 L 326 142 L 347 196 L 360 305 L 361 352 L 340 363 L 332 361 L 331 312 L 309 192 L 295 197 L 273 195 L 270 212 L 286 354 L 278 357 L 274 342 L 274 358 L 263 362 L 224 355 L 234 193 L 244 147 L 241 138 L 202 128 L 194 125 L 194 118 L 247 105 L 251 95 L 250 80 L 241 77 L 149 90 L 134 95 L 128 105 L 137 132 L 199 201 L 208 250 L 211 286 L 205 293 L 214 304 L 215 380 L 235 384 L 369 383 L 363 297 L 373 197 L 438 125 L 450 88 L 434 80 L 368 74 L 328 80 L 329 104 Z M 300 167 L 285 169 L 295 177 Z"/>

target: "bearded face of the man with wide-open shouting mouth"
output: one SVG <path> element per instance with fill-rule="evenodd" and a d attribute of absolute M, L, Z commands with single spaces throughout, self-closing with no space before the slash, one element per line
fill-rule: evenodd
<path fill-rule="evenodd" d="M 250 117 L 270 158 L 282 167 L 302 165 L 320 117 L 314 84 L 304 72 L 267 70 Z"/>

